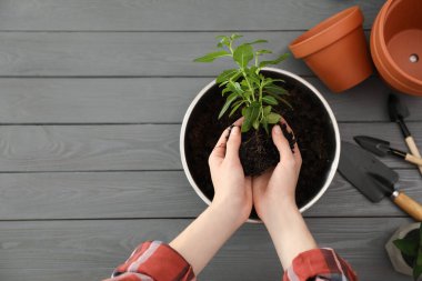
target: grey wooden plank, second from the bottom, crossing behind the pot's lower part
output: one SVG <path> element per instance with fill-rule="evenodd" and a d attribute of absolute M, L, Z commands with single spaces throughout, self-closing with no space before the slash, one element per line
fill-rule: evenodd
<path fill-rule="evenodd" d="M 422 202 L 418 171 L 398 172 L 398 187 Z M 194 218 L 205 208 L 182 171 L 1 173 L 0 182 L 0 220 Z M 339 174 L 304 215 L 405 217 L 388 199 L 371 203 Z"/>

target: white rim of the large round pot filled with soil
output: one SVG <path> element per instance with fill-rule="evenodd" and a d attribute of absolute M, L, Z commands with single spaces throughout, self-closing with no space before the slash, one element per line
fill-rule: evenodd
<path fill-rule="evenodd" d="M 321 103 L 323 104 L 326 113 L 329 114 L 330 119 L 331 119 L 331 124 L 332 124 L 332 131 L 333 131 L 333 134 L 334 134 L 334 139 L 335 139 L 335 152 L 334 152 L 334 157 L 331 161 L 331 167 L 330 167 L 330 170 L 328 171 L 326 173 L 326 177 L 325 177 L 325 181 L 323 183 L 323 185 L 321 187 L 321 189 L 319 190 L 319 192 L 316 193 L 315 197 L 313 197 L 305 205 L 303 205 L 302 208 L 300 208 L 300 211 L 301 212 L 304 212 L 305 210 L 308 210 L 309 208 L 311 208 L 326 191 L 326 189 L 329 188 L 330 183 L 332 182 L 333 178 L 334 178 L 334 174 L 335 174 L 335 171 L 336 171 L 336 168 L 339 165 L 339 159 L 340 159 L 340 133 L 339 133 L 339 126 L 338 126 L 338 122 L 335 120 L 335 117 L 334 117 L 334 113 L 333 111 L 331 110 L 329 103 L 326 102 L 326 100 L 322 97 L 322 94 L 312 86 L 310 84 L 308 81 L 305 81 L 304 79 L 300 78 L 299 76 L 297 74 L 293 74 L 289 71 L 285 71 L 285 70 L 280 70 L 280 69 L 275 69 L 275 68 L 264 68 L 263 70 L 265 71 L 270 71 L 270 72 L 275 72 L 275 73 L 279 73 L 279 74 L 282 74 L 282 76 L 285 76 L 285 77 L 289 77 L 295 81 L 298 81 L 299 83 L 303 84 L 305 88 L 308 88 L 309 90 L 311 90 L 313 92 L 313 94 L 321 101 Z M 188 108 L 188 111 L 185 112 L 184 114 L 184 118 L 183 118 L 183 122 L 182 122 L 182 128 L 181 128 L 181 131 L 180 131 L 180 155 L 181 155 L 181 161 L 182 161 L 182 165 L 183 165 L 183 170 L 184 170 L 184 173 L 189 180 L 189 183 L 192 185 L 193 190 L 197 192 L 197 194 L 207 203 L 207 204 L 210 204 L 211 201 L 210 199 L 201 191 L 201 189 L 198 187 L 198 184 L 195 183 L 195 181 L 193 180 L 192 178 L 192 174 L 191 174 L 191 171 L 189 170 L 189 165 L 188 165 L 188 162 L 187 162 L 187 157 L 185 157 L 185 134 L 187 134 L 187 127 L 188 127 L 188 122 L 189 122 L 189 119 L 191 117 L 191 113 L 193 111 L 193 109 L 195 108 L 197 103 L 200 101 L 200 99 L 215 84 L 215 80 L 210 82 L 208 86 L 205 86 L 199 93 L 198 96 L 193 99 L 192 103 L 189 106 Z M 215 109 L 218 110 L 218 109 Z M 255 220 L 255 219 L 249 219 L 248 222 L 261 222 L 260 220 Z"/>

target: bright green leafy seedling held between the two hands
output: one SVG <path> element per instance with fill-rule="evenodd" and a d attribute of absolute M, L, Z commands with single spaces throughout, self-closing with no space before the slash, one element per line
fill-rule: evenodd
<path fill-rule="evenodd" d="M 269 133 L 269 124 L 275 124 L 281 116 L 274 112 L 273 107 L 282 102 L 291 108 L 283 96 L 288 91 L 278 86 L 277 82 L 284 82 L 281 79 L 272 79 L 261 73 L 262 68 L 278 64 L 285 60 L 289 54 L 284 53 L 274 60 L 260 60 L 263 54 L 272 53 L 267 49 L 254 50 L 254 46 L 267 43 L 267 40 L 255 40 L 234 46 L 241 38 L 240 34 L 219 36 L 219 43 L 215 52 L 208 53 L 195 59 L 197 62 L 212 62 L 218 58 L 230 57 L 237 68 L 222 71 L 215 82 L 222 89 L 225 103 L 221 108 L 219 119 L 230 109 L 229 117 L 240 110 L 244 117 L 242 132 L 248 132 L 251 128 L 257 131 L 262 128 Z"/>

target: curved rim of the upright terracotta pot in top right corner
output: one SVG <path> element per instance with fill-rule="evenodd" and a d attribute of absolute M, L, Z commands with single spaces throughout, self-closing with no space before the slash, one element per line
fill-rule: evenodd
<path fill-rule="evenodd" d="M 380 58 L 379 62 L 381 64 L 383 64 L 383 69 L 390 73 L 390 76 L 395 80 L 395 82 L 399 82 L 400 84 L 404 86 L 405 88 L 411 89 L 413 92 L 422 93 L 422 80 L 419 80 L 419 79 L 408 74 L 405 71 L 403 71 L 399 67 L 399 64 L 393 60 L 393 58 L 391 57 L 391 54 L 389 52 L 389 49 L 386 48 L 385 37 L 384 37 L 384 23 L 385 23 L 386 17 L 391 12 L 391 9 L 394 9 L 394 6 L 399 4 L 399 2 L 400 1 L 396 1 L 396 0 L 388 0 L 385 2 L 385 4 L 383 6 L 383 8 L 381 9 L 381 11 L 378 16 L 378 20 L 374 23 L 373 31 L 372 31 L 373 36 L 374 36 L 374 40 L 379 41 L 379 48 L 381 48 L 381 52 L 385 57 L 383 59 Z M 374 47 L 375 46 L 376 46 L 376 43 L 374 43 Z M 376 47 L 375 47 L 375 52 L 376 52 Z M 379 52 L 376 52 L 376 53 L 379 53 Z M 385 62 L 382 63 L 382 61 L 386 61 L 386 63 Z M 385 66 L 385 64 L 388 64 L 388 66 Z M 398 78 L 394 77 L 391 73 L 391 70 L 396 72 L 396 74 L 399 77 Z M 403 82 L 403 81 L 405 81 L 405 82 Z M 410 86 L 409 82 L 412 83 L 412 86 Z"/>

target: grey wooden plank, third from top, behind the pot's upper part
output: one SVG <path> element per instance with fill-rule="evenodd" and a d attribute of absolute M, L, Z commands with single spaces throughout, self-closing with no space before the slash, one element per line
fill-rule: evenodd
<path fill-rule="evenodd" d="M 372 77 L 359 87 L 333 94 L 314 84 L 338 121 L 389 121 L 389 89 Z M 173 123 L 212 78 L 0 79 L 1 123 Z M 411 121 L 422 120 L 422 99 L 401 96 Z M 160 110 L 157 110 L 160 109 Z M 356 112 L 359 110 L 359 113 Z"/>

